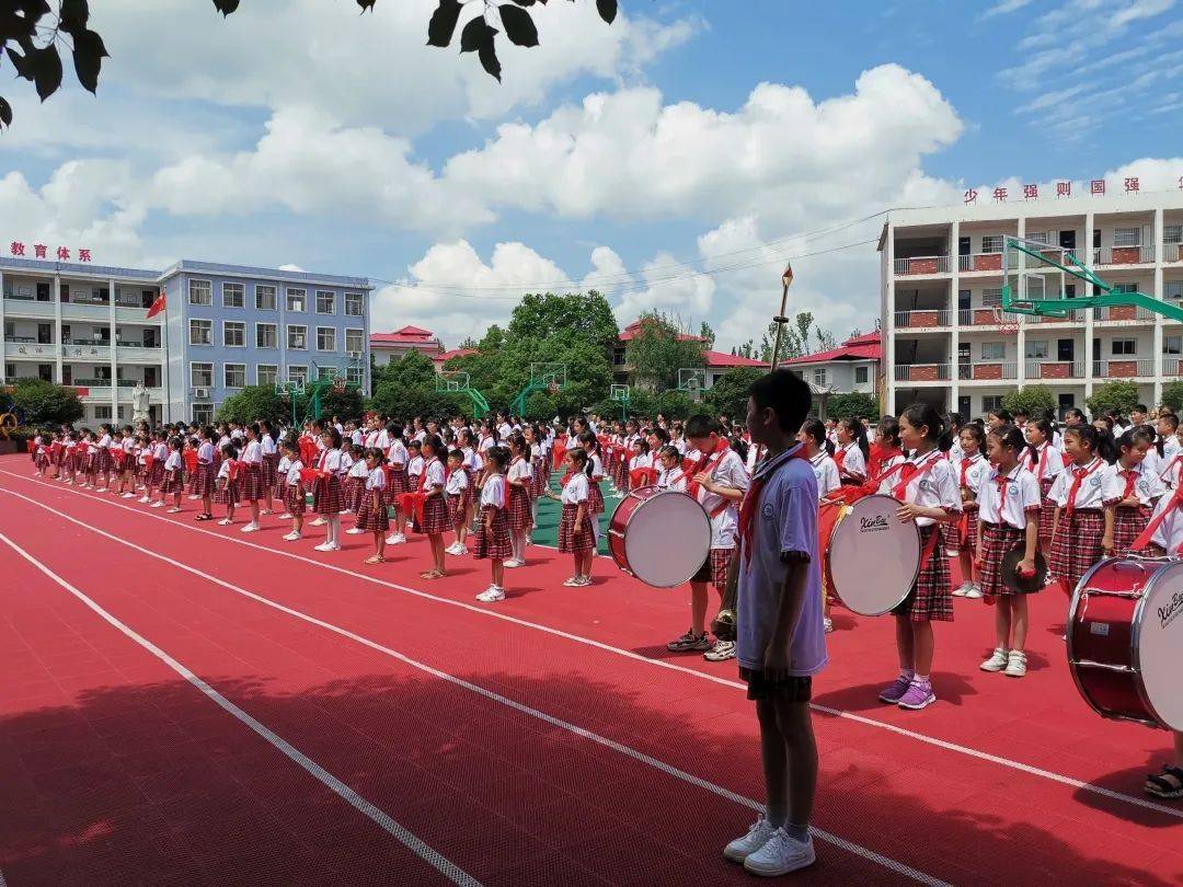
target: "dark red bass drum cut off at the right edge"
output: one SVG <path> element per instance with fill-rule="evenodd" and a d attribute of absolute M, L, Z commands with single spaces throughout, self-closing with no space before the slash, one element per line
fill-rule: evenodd
<path fill-rule="evenodd" d="M 1101 561 L 1072 596 L 1068 665 L 1104 718 L 1183 731 L 1183 561 Z"/>

